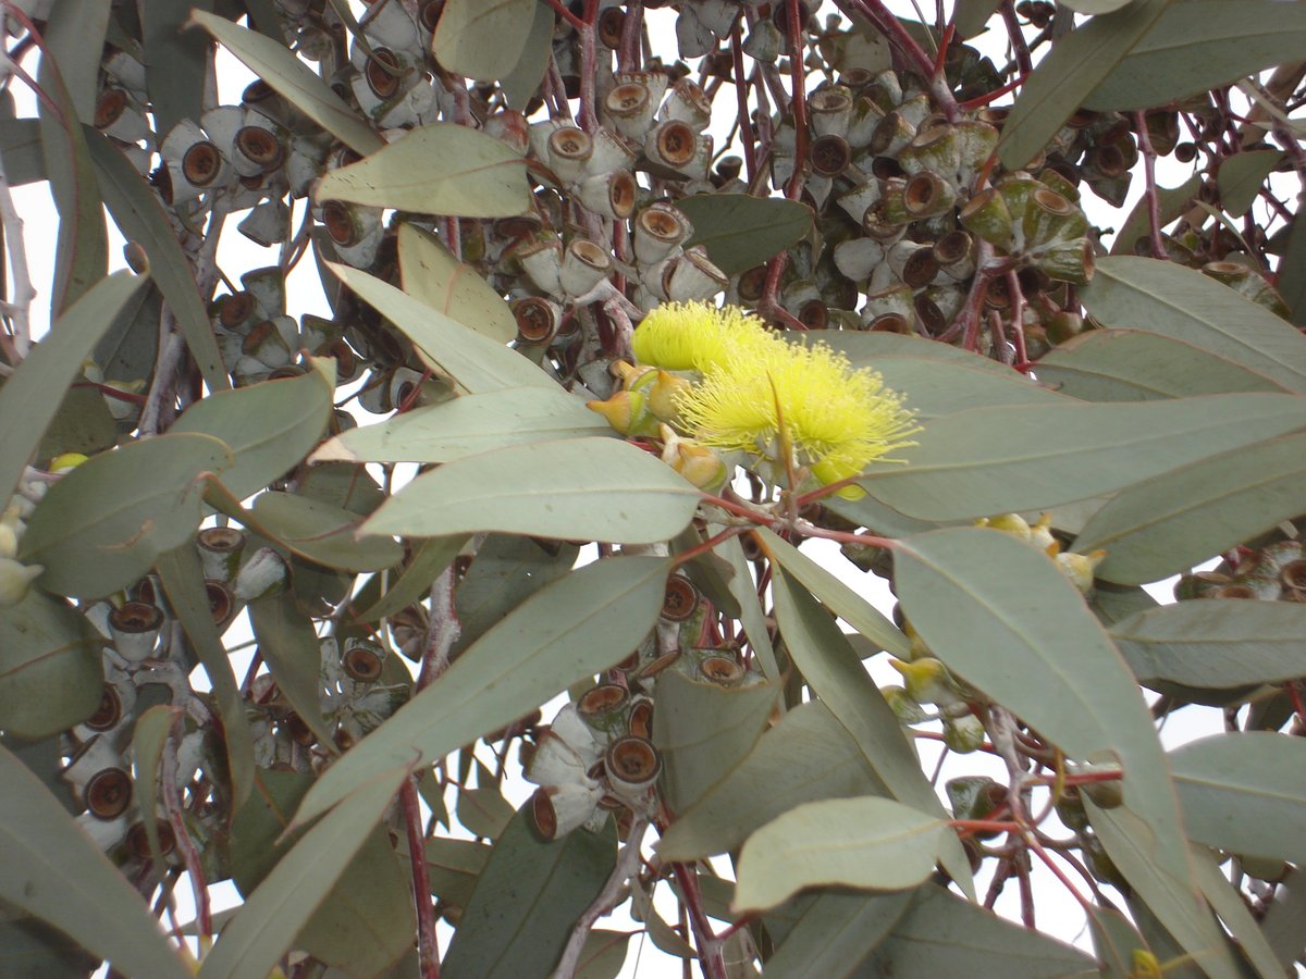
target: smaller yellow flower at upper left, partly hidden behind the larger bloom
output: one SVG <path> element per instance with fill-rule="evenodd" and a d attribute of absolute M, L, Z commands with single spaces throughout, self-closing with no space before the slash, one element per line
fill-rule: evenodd
<path fill-rule="evenodd" d="M 667 371 L 710 371 L 780 339 L 738 307 L 666 303 L 635 329 L 635 359 Z"/>

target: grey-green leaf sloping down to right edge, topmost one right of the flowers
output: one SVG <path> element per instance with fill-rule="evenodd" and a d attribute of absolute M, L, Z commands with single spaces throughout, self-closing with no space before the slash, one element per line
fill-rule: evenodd
<path fill-rule="evenodd" d="M 1098 258 L 1081 292 L 1104 326 L 1141 326 L 1306 390 L 1306 337 L 1196 269 L 1155 258 Z"/>

